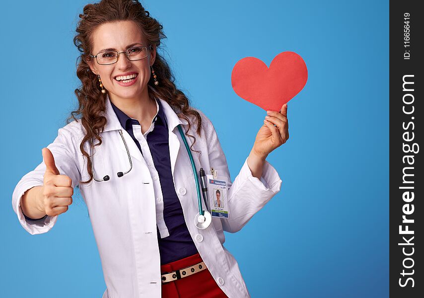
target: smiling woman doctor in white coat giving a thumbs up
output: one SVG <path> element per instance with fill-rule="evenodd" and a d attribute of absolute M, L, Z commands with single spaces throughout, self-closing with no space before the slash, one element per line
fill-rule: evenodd
<path fill-rule="evenodd" d="M 156 52 L 162 26 L 137 0 L 87 4 L 79 16 L 79 107 L 42 150 L 44 161 L 16 185 L 19 222 L 31 234 L 47 232 L 79 185 L 102 261 L 103 297 L 249 297 L 222 246 L 223 230 L 241 229 L 280 191 L 265 158 L 288 139 L 286 105 L 269 112 L 231 183 L 211 121 L 190 107 Z M 177 126 L 197 170 L 213 167 L 228 182 L 230 218 L 213 218 L 206 229 L 194 221 L 195 177 Z"/>

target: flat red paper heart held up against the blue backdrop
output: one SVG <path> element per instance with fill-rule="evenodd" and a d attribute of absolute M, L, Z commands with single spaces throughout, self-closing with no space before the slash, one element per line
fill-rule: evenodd
<path fill-rule="evenodd" d="M 306 64 L 294 52 L 278 54 L 270 68 L 258 58 L 246 57 L 235 64 L 231 73 L 235 93 L 266 111 L 280 111 L 307 80 Z"/>

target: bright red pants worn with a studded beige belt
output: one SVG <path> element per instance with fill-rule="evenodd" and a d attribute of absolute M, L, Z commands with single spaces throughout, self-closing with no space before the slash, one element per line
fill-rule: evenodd
<path fill-rule="evenodd" d="M 202 262 L 200 254 L 160 266 L 161 274 Z M 226 298 L 208 269 L 188 277 L 162 284 L 162 298 Z"/>

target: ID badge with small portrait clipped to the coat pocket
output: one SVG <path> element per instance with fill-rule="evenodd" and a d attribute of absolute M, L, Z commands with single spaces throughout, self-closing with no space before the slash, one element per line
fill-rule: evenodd
<path fill-rule="evenodd" d="M 228 219 L 227 181 L 224 177 L 209 174 L 206 177 L 212 217 Z"/>

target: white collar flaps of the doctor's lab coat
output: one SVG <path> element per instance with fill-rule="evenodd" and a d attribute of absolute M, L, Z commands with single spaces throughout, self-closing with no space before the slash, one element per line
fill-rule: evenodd
<path fill-rule="evenodd" d="M 162 105 L 163 112 L 168 122 L 168 130 L 170 132 L 172 132 L 179 124 L 183 124 L 183 125 L 188 124 L 187 120 L 180 119 L 178 117 L 178 115 L 175 113 L 172 107 L 164 99 L 158 96 L 157 98 L 160 100 L 160 103 Z M 121 123 L 119 122 L 118 116 L 116 116 L 116 113 L 112 108 L 109 94 L 106 94 L 106 111 L 104 112 L 104 116 L 107 119 L 107 123 L 105 125 L 103 132 L 123 129 L 123 127 L 121 126 Z"/>

